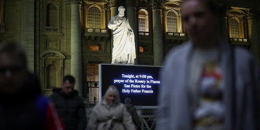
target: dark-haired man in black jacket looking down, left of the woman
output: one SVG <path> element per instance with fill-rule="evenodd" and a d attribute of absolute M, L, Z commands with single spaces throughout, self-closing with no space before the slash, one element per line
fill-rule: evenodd
<path fill-rule="evenodd" d="M 67 130 L 84 130 L 86 111 L 78 91 L 74 90 L 75 78 L 67 75 L 63 78 L 61 88 L 54 88 L 50 96 L 54 106 Z"/>

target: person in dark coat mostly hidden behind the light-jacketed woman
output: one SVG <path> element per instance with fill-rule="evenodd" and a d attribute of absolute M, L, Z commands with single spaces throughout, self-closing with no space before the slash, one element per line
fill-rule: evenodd
<path fill-rule="evenodd" d="M 133 122 L 136 125 L 136 129 L 139 129 L 139 126 L 140 126 L 139 117 L 138 117 L 138 114 L 136 112 L 136 108 L 134 107 L 134 105 L 131 102 L 131 99 L 125 98 L 124 103 L 125 103 L 124 106 L 126 107 L 127 111 L 132 116 Z"/>

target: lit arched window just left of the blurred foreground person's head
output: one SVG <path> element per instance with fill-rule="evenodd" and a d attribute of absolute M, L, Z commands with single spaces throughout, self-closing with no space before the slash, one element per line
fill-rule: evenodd
<path fill-rule="evenodd" d="M 167 13 L 168 32 L 177 32 L 177 16 L 173 11 Z"/>

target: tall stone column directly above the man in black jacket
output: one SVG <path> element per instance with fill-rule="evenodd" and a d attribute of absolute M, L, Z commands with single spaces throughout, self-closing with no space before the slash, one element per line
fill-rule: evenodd
<path fill-rule="evenodd" d="M 80 1 L 71 0 L 71 75 L 75 77 L 75 89 L 82 96 L 82 53 Z"/>

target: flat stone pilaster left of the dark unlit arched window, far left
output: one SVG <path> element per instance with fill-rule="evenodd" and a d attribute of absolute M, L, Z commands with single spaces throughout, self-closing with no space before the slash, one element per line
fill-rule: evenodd
<path fill-rule="evenodd" d="M 26 48 L 27 66 L 31 73 L 35 71 L 34 2 L 34 0 L 22 1 L 22 45 Z"/>

